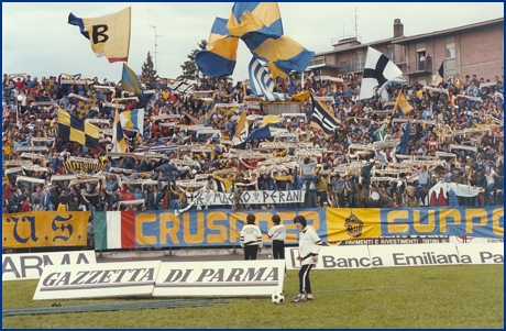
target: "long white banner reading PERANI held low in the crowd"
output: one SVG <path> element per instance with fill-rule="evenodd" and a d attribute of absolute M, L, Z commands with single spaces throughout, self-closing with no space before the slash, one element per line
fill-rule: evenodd
<path fill-rule="evenodd" d="M 195 206 L 234 205 L 234 194 L 197 191 L 186 192 L 188 203 Z M 254 190 L 243 191 L 240 203 L 265 205 L 265 203 L 294 203 L 304 202 L 306 192 L 304 190 Z"/>

